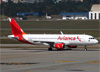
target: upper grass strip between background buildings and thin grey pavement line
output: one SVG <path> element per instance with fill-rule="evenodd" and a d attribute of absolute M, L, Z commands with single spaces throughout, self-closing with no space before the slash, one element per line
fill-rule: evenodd
<path fill-rule="evenodd" d="M 99 20 L 87 21 L 17 21 L 22 29 L 99 29 Z M 9 28 L 8 21 L 2 21 L 1 28 Z"/>

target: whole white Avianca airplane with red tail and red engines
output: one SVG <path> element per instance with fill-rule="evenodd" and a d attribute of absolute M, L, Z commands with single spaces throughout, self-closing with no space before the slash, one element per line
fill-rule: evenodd
<path fill-rule="evenodd" d="M 66 46 L 77 48 L 79 45 L 87 51 L 88 45 L 98 44 L 93 36 L 85 34 L 63 34 L 62 31 L 61 34 L 26 34 L 13 18 L 9 18 L 9 21 L 12 35 L 8 35 L 8 38 L 32 45 L 49 45 L 48 51 L 52 48 L 63 50 Z"/>

